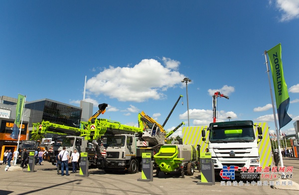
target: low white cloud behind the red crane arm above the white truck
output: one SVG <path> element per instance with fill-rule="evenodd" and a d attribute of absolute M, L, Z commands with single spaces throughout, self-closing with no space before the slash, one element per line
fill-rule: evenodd
<path fill-rule="evenodd" d="M 223 110 L 217 111 L 217 122 L 227 121 L 231 117 L 231 120 L 237 120 L 238 116 L 234 112 L 225 112 Z M 187 111 L 179 115 L 180 119 L 188 119 Z M 213 121 L 213 111 L 203 109 L 189 109 L 189 119 L 193 119 L 192 126 L 197 125 L 209 125 Z M 187 124 L 187 123 L 186 123 Z"/>

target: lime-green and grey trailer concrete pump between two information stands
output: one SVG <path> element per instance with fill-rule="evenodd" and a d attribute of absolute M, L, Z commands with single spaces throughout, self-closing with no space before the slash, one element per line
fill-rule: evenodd
<path fill-rule="evenodd" d="M 180 172 L 184 178 L 185 174 L 193 175 L 197 163 L 197 152 L 192 145 L 163 145 L 153 159 L 157 164 L 157 177 L 159 172 L 165 175 L 170 172 Z"/>

